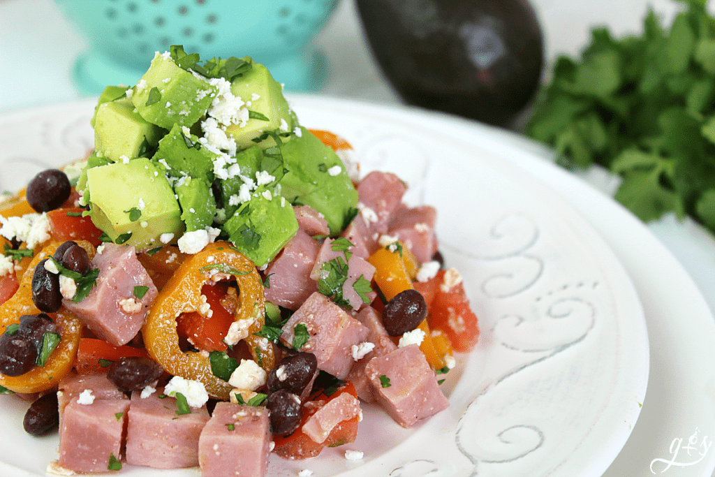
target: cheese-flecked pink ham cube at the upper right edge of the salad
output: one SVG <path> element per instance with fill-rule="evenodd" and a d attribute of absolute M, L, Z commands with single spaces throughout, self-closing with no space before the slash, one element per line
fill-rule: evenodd
<path fill-rule="evenodd" d="M 390 219 L 388 235 L 398 237 L 420 262 L 429 262 L 437 252 L 436 220 L 437 211 L 429 205 L 399 207 Z"/>

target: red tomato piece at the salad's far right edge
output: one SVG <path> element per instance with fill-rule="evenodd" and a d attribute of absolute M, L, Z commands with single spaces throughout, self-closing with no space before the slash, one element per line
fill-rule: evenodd
<path fill-rule="evenodd" d="M 435 279 L 438 283 L 444 280 L 444 270 L 440 270 Z M 448 292 L 437 287 L 428 315 L 430 328 L 442 330 L 448 336 L 455 351 L 468 352 L 474 348 L 479 339 L 479 324 L 477 316 L 469 308 L 464 287 L 460 283 Z"/>

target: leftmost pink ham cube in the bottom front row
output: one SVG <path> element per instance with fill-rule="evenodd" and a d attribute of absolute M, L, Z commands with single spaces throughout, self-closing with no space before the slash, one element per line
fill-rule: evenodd
<path fill-rule="evenodd" d="M 122 460 L 128 399 L 98 399 L 82 404 L 72 399 L 59 429 L 59 466 L 75 472 L 107 472 Z"/>

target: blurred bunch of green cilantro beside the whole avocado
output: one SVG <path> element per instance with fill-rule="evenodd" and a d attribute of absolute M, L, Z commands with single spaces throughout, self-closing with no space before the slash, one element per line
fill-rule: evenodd
<path fill-rule="evenodd" d="M 649 11 L 640 36 L 593 29 L 580 59 L 559 58 L 526 134 L 566 167 L 621 176 L 616 200 L 641 220 L 675 212 L 715 232 L 715 19 L 679 1 L 669 27 Z"/>

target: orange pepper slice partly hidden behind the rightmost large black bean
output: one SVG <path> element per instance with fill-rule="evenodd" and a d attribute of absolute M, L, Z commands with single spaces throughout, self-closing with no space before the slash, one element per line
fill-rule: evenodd
<path fill-rule="evenodd" d="M 405 260 L 405 256 L 408 256 L 407 260 Z M 406 247 L 402 247 L 402 252 L 398 250 L 390 252 L 387 248 L 380 248 L 375 250 L 373 255 L 368 258 L 368 262 L 375 267 L 373 280 L 378 284 L 380 291 L 383 292 L 385 299 L 388 301 L 392 300 L 400 292 L 413 288 L 410 272 L 408 272 L 408 267 L 405 264 L 406 261 L 409 263 L 410 269 L 418 269 L 417 260 Z M 425 333 L 425 339 L 420 344 L 420 351 L 424 353 L 427 362 L 430 363 L 433 369 L 444 368 L 444 355 L 438 354 L 435 350 L 430 325 L 428 325 L 426 318 L 418 328 Z"/>

